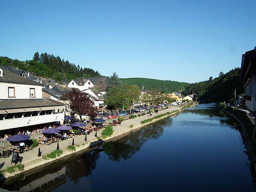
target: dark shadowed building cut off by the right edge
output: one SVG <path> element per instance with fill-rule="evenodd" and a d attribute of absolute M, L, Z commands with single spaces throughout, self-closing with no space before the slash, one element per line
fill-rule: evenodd
<path fill-rule="evenodd" d="M 249 111 L 256 111 L 256 49 L 242 55 L 240 79 L 245 89 L 245 106 Z"/>

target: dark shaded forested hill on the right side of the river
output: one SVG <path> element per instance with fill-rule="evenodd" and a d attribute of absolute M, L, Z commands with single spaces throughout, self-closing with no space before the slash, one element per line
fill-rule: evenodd
<path fill-rule="evenodd" d="M 192 83 L 186 90 L 182 92 L 182 95 L 188 95 L 196 93 L 199 99 L 213 99 L 213 100 L 233 100 L 236 96 L 244 93 L 240 78 L 240 68 L 230 70 L 228 73 L 220 73 L 219 77 L 208 81 L 202 81 L 199 83 Z"/>

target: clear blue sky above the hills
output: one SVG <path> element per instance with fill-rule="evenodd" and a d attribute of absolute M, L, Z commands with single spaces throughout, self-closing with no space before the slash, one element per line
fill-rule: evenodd
<path fill-rule="evenodd" d="M 0 56 L 35 52 L 102 76 L 195 83 L 241 67 L 255 0 L 3 0 Z"/>

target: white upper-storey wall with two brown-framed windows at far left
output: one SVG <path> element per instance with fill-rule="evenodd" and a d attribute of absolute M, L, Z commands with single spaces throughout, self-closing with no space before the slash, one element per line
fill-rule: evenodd
<path fill-rule="evenodd" d="M 42 99 L 42 87 L 28 84 L 0 83 L 0 99 Z"/>

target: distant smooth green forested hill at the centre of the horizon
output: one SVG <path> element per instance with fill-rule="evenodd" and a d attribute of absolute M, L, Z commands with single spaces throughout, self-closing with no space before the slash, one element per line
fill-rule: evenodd
<path fill-rule="evenodd" d="M 157 89 L 162 93 L 172 93 L 178 92 L 179 90 L 185 90 L 189 83 L 180 83 L 177 81 L 163 81 L 156 79 L 145 79 L 145 78 L 126 78 L 121 79 L 120 81 L 125 84 L 136 84 L 140 89 L 142 86 L 144 90 L 153 90 Z"/>

